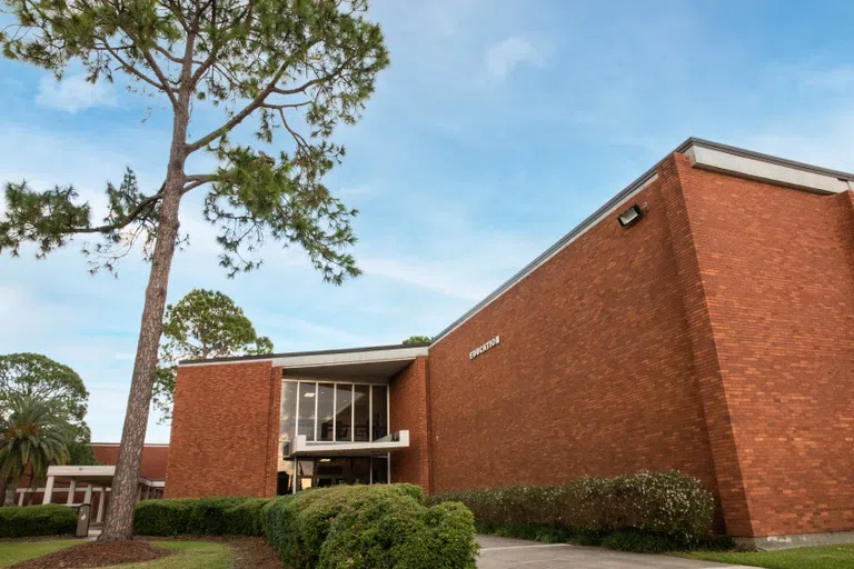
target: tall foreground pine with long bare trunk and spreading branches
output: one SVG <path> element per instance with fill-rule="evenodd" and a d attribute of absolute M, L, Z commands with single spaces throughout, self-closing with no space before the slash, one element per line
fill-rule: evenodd
<path fill-rule="evenodd" d="M 139 465 L 158 360 L 169 272 L 179 236 L 178 210 L 189 192 L 207 187 L 203 214 L 219 228 L 220 264 L 229 276 L 258 267 L 265 238 L 301 246 L 325 280 L 359 273 L 346 249 L 356 213 L 331 196 L 324 176 L 341 159 L 331 142 L 340 122 L 355 123 L 388 64 L 379 26 L 367 21 L 366 0 L 3 0 L 13 26 L 0 32 L 3 54 L 57 78 L 80 61 L 90 81 L 125 76 L 145 94 L 160 96 L 172 119 L 163 149 L 163 182 L 142 191 L 129 170 L 107 186 L 109 211 L 93 223 L 72 187 L 34 191 L 6 187 L 0 250 L 18 254 L 33 242 L 43 257 L 76 236 L 93 269 L 115 262 L 142 239 L 151 261 L 121 448 L 102 540 L 129 539 Z M 222 122 L 190 136 L 201 101 L 225 110 Z M 271 157 L 231 141 L 249 117 L 256 137 L 285 133 Z M 197 126 L 196 131 L 203 131 Z M 207 151 L 218 167 L 188 172 Z"/>

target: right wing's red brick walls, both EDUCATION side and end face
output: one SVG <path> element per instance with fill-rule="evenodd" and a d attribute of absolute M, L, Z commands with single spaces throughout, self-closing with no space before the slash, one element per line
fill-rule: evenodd
<path fill-rule="evenodd" d="M 682 154 L 657 173 L 640 222 L 599 222 L 431 348 L 431 489 L 677 468 L 731 535 L 854 529 L 853 194 Z"/>

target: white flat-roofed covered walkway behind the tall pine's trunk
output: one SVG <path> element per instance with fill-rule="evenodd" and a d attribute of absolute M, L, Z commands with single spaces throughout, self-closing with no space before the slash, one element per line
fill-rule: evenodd
<path fill-rule="evenodd" d="M 105 502 L 107 501 L 107 492 L 111 490 L 112 477 L 116 475 L 115 466 L 96 466 L 96 467 L 49 467 L 48 479 L 43 490 L 41 503 L 50 503 L 54 493 L 67 493 L 66 505 L 75 505 L 75 496 L 78 491 L 85 488 L 86 495 L 82 503 L 92 503 L 92 492 L 99 492 L 100 499 L 98 500 L 98 512 L 96 513 L 96 523 L 103 521 Z M 57 486 L 57 482 L 63 486 Z M 82 487 L 81 485 L 86 485 Z M 162 498 L 166 482 L 159 480 L 149 480 L 147 478 L 139 478 L 137 483 L 137 500 L 149 500 L 152 498 Z M 21 488 L 18 490 L 20 493 L 19 505 L 23 505 L 23 493 L 28 490 Z"/>

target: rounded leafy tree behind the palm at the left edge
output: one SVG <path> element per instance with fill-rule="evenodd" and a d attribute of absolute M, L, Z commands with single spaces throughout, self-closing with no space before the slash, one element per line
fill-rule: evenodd
<path fill-rule="evenodd" d="M 89 392 L 73 369 L 40 353 L 0 356 L 0 409 L 10 409 L 12 400 L 18 397 L 43 401 L 69 423 L 71 438 L 67 447 L 70 462 L 95 463 L 91 435 L 83 420 Z M 8 482 L 10 480 L 0 477 L 0 496 Z"/>

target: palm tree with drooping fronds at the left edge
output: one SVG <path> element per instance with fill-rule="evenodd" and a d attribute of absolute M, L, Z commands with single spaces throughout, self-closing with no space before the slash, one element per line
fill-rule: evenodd
<path fill-rule="evenodd" d="M 7 481 L 4 506 L 14 503 L 18 480 L 30 467 L 31 480 L 43 480 L 50 463 L 68 461 L 71 426 L 50 401 L 14 396 L 0 417 L 0 478 Z"/>

